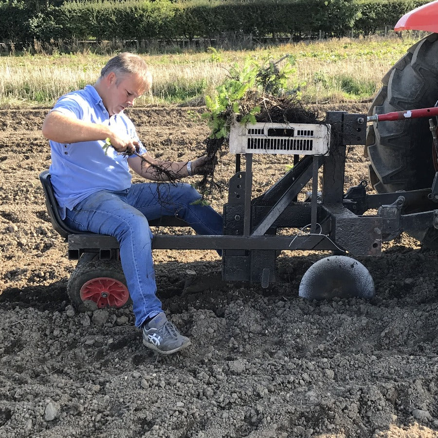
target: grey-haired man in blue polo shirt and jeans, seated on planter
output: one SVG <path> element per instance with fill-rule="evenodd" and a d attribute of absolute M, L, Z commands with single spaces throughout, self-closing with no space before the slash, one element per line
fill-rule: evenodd
<path fill-rule="evenodd" d="M 123 111 L 149 91 L 151 74 L 144 60 L 129 53 L 111 58 L 94 86 L 73 91 L 46 116 L 43 135 L 50 140 L 51 181 L 61 217 L 73 229 L 117 238 L 133 302 L 135 325 L 146 347 L 171 354 L 190 345 L 169 321 L 156 297 L 147 220 L 177 215 L 198 234 L 221 234 L 222 218 L 197 201 L 201 195 L 185 183 L 131 184 L 129 168 L 152 181 L 169 175 L 199 173 L 205 157 L 192 162 L 154 159 L 140 142 Z M 112 147 L 105 148 L 110 144 Z M 168 172 L 157 172 L 157 167 Z M 169 174 L 170 172 L 170 174 Z"/>

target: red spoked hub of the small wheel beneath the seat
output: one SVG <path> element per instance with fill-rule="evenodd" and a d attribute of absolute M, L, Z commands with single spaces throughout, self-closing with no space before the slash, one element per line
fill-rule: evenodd
<path fill-rule="evenodd" d="M 118 280 L 98 277 L 87 281 L 81 287 L 82 301 L 94 301 L 99 309 L 122 307 L 129 298 L 128 288 Z"/>

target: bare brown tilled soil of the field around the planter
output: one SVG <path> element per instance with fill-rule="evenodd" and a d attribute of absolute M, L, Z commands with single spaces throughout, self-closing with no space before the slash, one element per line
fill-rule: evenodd
<path fill-rule="evenodd" d="M 201 112 L 130 115 L 152 154 L 187 160 L 208 133 Z M 220 281 L 213 251 L 155 250 L 164 310 L 192 340 L 157 357 L 129 308 L 75 313 L 69 303 L 75 262 L 38 180 L 50 163 L 45 113 L 0 111 L 1 438 L 438 437 L 436 252 L 403 235 L 359 259 L 374 278 L 371 302 L 316 303 L 298 286 L 327 254 L 282 253 L 265 290 Z M 362 150 L 348 152 L 346 187 L 367 179 Z M 223 182 L 232 158 L 221 160 Z M 288 161 L 255 156 L 254 194 Z M 211 203 L 220 211 L 225 200 Z"/>

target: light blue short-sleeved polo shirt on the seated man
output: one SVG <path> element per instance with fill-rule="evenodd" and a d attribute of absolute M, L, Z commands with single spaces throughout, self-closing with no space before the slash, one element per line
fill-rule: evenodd
<path fill-rule="evenodd" d="M 128 116 L 121 112 L 110 117 L 101 97 L 91 85 L 60 97 L 52 111 L 85 122 L 109 125 L 140 142 Z M 62 219 L 65 219 L 66 208 L 73 209 L 91 193 L 99 190 L 120 191 L 130 187 L 128 157 L 118 155 L 112 147 L 105 153 L 104 145 L 104 140 L 79 143 L 50 141 L 51 181 Z M 139 153 L 146 153 L 143 145 Z"/>

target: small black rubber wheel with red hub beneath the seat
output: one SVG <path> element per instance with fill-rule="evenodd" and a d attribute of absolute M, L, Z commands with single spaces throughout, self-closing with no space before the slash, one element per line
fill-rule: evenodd
<path fill-rule="evenodd" d="M 78 311 L 120 308 L 132 303 L 120 261 L 100 260 L 90 254 L 79 259 L 67 292 Z"/>

